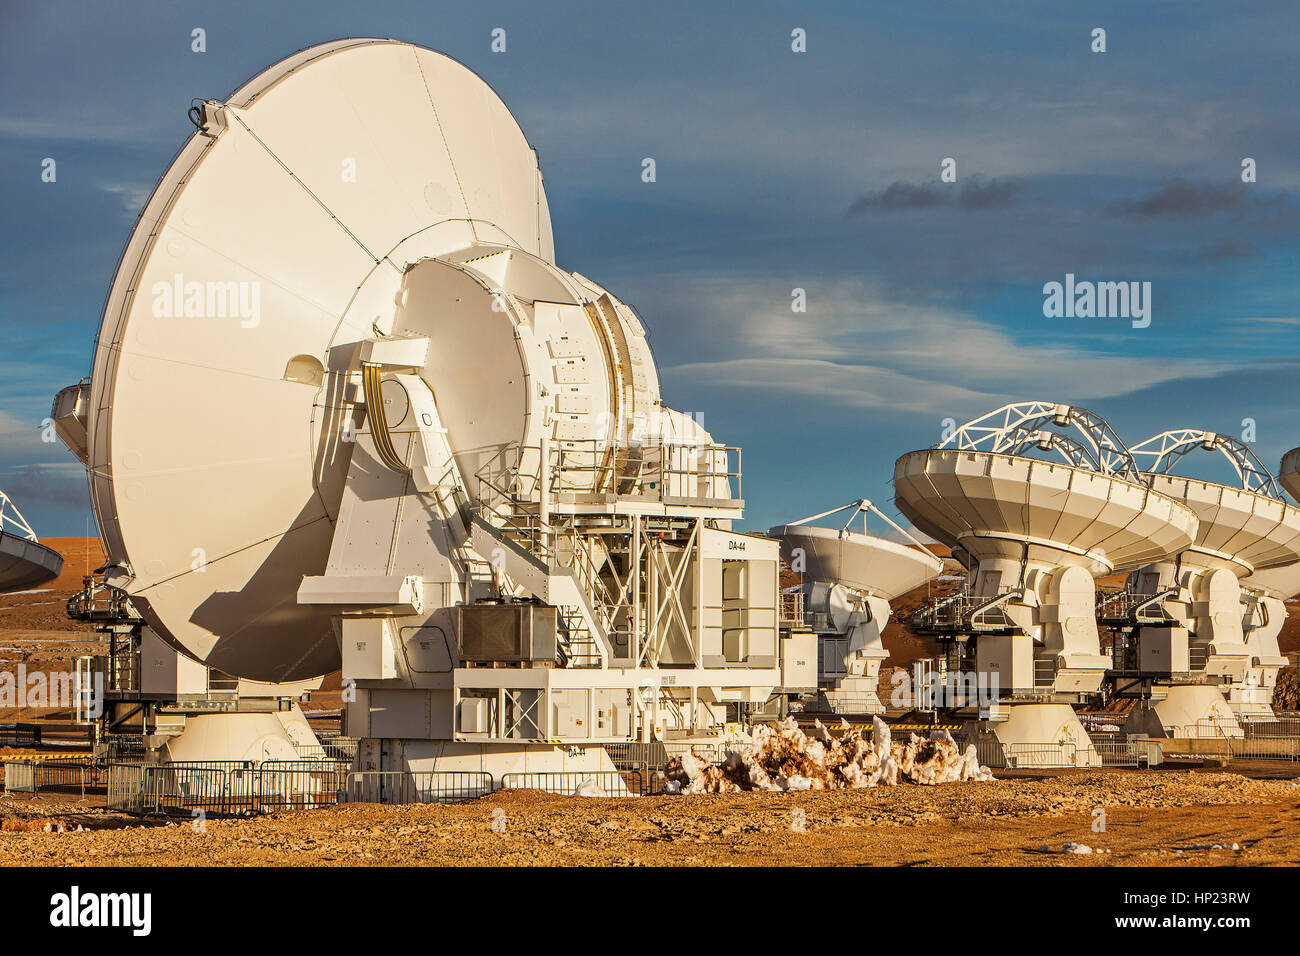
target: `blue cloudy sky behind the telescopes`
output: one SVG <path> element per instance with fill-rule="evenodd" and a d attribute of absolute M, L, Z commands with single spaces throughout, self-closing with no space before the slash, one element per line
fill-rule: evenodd
<path fill-rule="evenodd" d="M 0 488 L 39 533 L 82 533 L 84 479 L 39 423 L 88 371 L 191 98 L 346 35 L 439 49 L 500 94 L 540 151 L 559 264 L 630 302 L 667 401 L 745 447 L 749 527 L 863 496 L 892 511 L 900 454 L 1013 399 L 1086 405 L 1134 442 L 1253 419 L 1275 467 L 1300 445 L 1297 21 L 1288 3 L 0 0 Z M 1150 326 L 1045 319 L 1066 273 L 1149 281 Z"/>

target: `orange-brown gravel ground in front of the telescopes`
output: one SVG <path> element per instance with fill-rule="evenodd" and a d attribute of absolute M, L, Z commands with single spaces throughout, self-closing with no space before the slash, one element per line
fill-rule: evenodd
<path fill-rule="evenodd" d="M 1097 806 L 1105 809 L 1105 832 L 1092 830 Z M 1204 771 L 1080 771 L 983 784 L 623 800 L 511 791 L 452 806 L 347 804 L 209 819 L 202 832 L 188 821 L 139 826 L 75 804 L 22 799 L 0 800 L 0 865 L 1300 862 L 1300 784 Z M 494 818 L 502 817 L 504 831 L 494 832 Z M 51 821 L 69 831 L 44 832 Z M 78 825 L 86 830 L 75 832 Z M 1065 843 L 1109 852 L 1063 855 Z M 1239 849 L 1230 848 L 1234 843 Z M 1056 852 L 1041 852 L 1043 844 Z"/>

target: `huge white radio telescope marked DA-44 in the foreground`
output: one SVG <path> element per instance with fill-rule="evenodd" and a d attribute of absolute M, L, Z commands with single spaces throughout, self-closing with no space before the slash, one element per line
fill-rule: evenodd
<path fill-rule="evenodd" d="M 779 546 L 729 531 L 738 450 L 555 265 L 491 88 L 348 39 L 192 116 L 65 403 L 148 626 L 251 680 L 342 665 L 372 770 L 612 769 L 767 701 Z"/>

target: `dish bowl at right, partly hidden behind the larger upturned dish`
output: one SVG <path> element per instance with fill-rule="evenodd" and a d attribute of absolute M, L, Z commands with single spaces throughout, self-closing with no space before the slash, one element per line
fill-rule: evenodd
<path fill-rule="evenodd" d="M 1178 475 L 1152 475 L 1150 483 L 1184 502 L 1200 522 L 1182 563 L 1245 576 L 1300 561 L 1300 509 L 1268 494 Z"/>

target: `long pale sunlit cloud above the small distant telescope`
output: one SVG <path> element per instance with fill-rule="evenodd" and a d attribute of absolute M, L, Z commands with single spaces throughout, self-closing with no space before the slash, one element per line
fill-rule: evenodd
<path fill-rule="evenodd" d="M 679 281 L 702 328 L 745 354 L 664 369 L 696 388 L 780 392 L 822 406 L 970 416 L 1010 401 L 1106 399 L 1182 378 L 1222 375 L 1227 358 L 1162 356 L 1152 363 L 1131 332 L 1114 350 L 1037 345 L 957 310 L 884 298 L 846 281 L 810 290 L 809 313 L 753 286 Z M 1127 326 L 1126 326 L 1127 328 Z"/>

